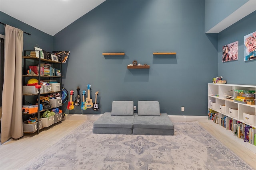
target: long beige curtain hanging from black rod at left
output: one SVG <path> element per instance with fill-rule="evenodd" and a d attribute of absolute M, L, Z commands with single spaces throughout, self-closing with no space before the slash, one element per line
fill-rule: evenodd
<path fill-rule="evenodd" d="M 23 136 L 22 51 L 23 31 L 5 26 L 4 86 L 2 94 L 1 144 Z"/>

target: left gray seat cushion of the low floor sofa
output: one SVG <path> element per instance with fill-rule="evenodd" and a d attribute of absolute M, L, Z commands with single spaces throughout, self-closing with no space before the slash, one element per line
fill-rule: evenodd
<path fill-rule="evenodd" d="M 110 112 L 106 112 L 94 122 L 93 127 L 132 128 L 134 115 L 113 116 Z"/>

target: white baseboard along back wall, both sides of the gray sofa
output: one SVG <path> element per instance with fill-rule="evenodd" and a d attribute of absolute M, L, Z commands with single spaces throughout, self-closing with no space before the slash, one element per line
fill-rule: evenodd
<path fill-rule="evenodd" d="M 64 120 L 97 120 L 102 114 L 65 114 Z M 171 121 L 207 122 L 207 116 L 168 115 Z"/>

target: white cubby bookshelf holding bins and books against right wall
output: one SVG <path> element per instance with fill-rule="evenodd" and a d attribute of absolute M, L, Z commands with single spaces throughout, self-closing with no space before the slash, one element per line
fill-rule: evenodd
<path fill-rule="evenodd" d="M 244 123 L 246 125 L 249 125 L 251 127 L 256 128 L 255 123 L 254 124 L 249 124 L 247 123 L 248 121 L 244 121 L 244 112 L 250 112 L 254 113 L 256 112 L 256 107 L 255 105 L 249 105 L 249 104 L 243 104 L 243 103 L 238 103 L 235 102 L 236 96 L 239 96 L 239 93 L 236 93 L 235 90 L 256 90 L 256 86 L 253 85 L 240 85 L 240 84 L 214 84 L 214 83 L 208 83 L 208 111 L 210 109 L 218 112 L 218 124 L 214 123 L 218 128 L 223 131 L 226 135 L 232 137 L 233 140 L 235 140 L 237 143 L 240 143 L 247 149 L 251 150 L 252 152 L 256 153 L 256 146 L 248 142 L 244 142 L 244 139 L 238 138 L 234 134 L 234 122 L 239 121 L 241 123 Z M 227 97 L 228 96 L 228 97 Z M 233 99 L 232 99 L 233 97 Z M 231 99 L 230 99 L 231 98 Z M 255 97 L 254 97 L 255 98 Z M 255 99 L 254 99 L 255 100 Z M 210 102 L 215 101 L 215 108 L 211 106 Z M 224 109 L 220 107 L 220 105 L 225 105 Z M 232 117 L 229 113 L 229 108 L 238 108 L 238 117 Z M 222 116 L 227 116 L 230 117 L 232 120 L 232 129 L 233 131 L 226 130 L 226 128 L 222 127 L 221 121 L 222 121 Z M 254 118 L 256 119 L 256 118 Z M 254 120 L 255 122 L 256 120 Z M 213 121 L 212 121 L 213 122 Z"/>

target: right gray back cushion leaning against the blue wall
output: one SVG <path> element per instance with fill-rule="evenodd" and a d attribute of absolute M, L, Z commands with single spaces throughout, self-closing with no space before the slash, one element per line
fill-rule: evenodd
<path fill-rule="evenodd" d="M 158 101 L 138 101 L 138 115 L 160 116 L 160 106 Z"/>

